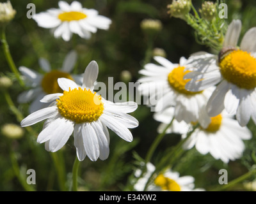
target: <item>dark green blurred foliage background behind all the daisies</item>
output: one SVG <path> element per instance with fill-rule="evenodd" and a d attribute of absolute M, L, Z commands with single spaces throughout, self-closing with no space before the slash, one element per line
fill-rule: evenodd
<path fill-rule="evenodd" d="M 4 1 L 1 1 L 4 2 Z M 108 84 L 108 77 L 114 78 L 114 84 L 122 81 L 120 73 L 128 70 L 131 73 L 130 82 L 136 82 L 140 75 L 138 71 L 143 68 L 143 60 L 148 47 L 148 38 L 143 33 L 140 23 L 145 18 L 161 20 L 163 29 L 154 36 L 153 47 L 162 48 L 166 52 L 166 58 L 172 62 L 179 62 L 181 56 L 189 57 L 193 52 L 211 50 L 204 45 L 198 45 L 194 38 L 194 32 L 183 20 L 170 18 L 167 13 L 167 4 L 172 1 L 164 0 L 86 0 L 80 1 L 85 8 L 94 8 L 100 15 L 111 18 L 112 24 L 108 31 L 99 30 L 92 35 L 90 40 L 84 40 L 74 35 L 72 40 L 65 42 L 55 39 L 49 29 L 38 27 L 33 19 L 28 19 L 26 13 L 28 3 L 36 5 L 36 13 L 49 8 L 58 8 L 58 1 L 11 1 L 17 11 L 15 19 L 6 27 L 6 38 L 10 46 L 13 60 L 17 67 L 26 66 L 42 72 L 38 65 L 39 57 L 45 57 L 52 68 L 61 68 L 63 59 L 67 53 L 75 49 L 79 55 L 76 64 L 76 73 L 83 73 L 88 63 L 92 60 L 99 64 L 99 82 Z M 72 1 L 67 1 L 71 3 Z M 192 1 L 196 9 L 200 8 L 203 1 Z M 242 36 L 250 27 L 256 26 L 255 1 L 227 1 L 228 18 L 240 18 L 243 22 Z M 1 74 L 11 77 L 13 86 L 9 89 L 10 95 L 19 110 L 28 115 L 28 105 L 19 105 L 17 95 L 22 92 L 17 81 L 10 73 L 3 51 L 0 51 Z M 148 147 L 157 135 L 156 122 L 152 118 L 150 108 L 139 105 L 138 110 L 132 113 L 139 120 L 140 126 L 131 129 L 134 141 L 127 143 L 114 133 L 111 133 L 110 154 L 106 161 L 92 162 L 86 157 L 81 163 L 79 171 L 79 186 L 84 191 L 122 191 L 125 188 L 129 176 L 134 168 L 134 152 L 144 158 Z M 0 92 L 0 127 L 6 123 L 19 124 L 12 111 L 6 105 L 3 93 Z M 196 187 L 211 189 L 218 184 L 218 171 L 221 168 L 228 170 L 228 180 L 243 175 L 252 166 L 251 154 L 256 152 L 255 126 L 250 122 L 248 127 L 253 131 L 253 139 L 246 143 L 244 156 L 237 161 L 223 164 L 216 161 L 210 155 L 202 156 L 195 149 L 190 150 L 175 165 L 175 170 L 180 175 L 192 175 L 195 177 Z M 33 126 L 38 133 L 42 129 L 42 123 Z M 152 163 L 157 161 L 164 152 L 180 139 L 179 135 L 166 135 L 157 147 Z M 12 140 L 0 135 L 0 191 L 24 191 L 19 180 L 15 176 L 10 149 L 17 159 L 20 174 L 27 177 L 26 170 L 36 171 L 37 191 L 60 191 L 58 185 L 58 173 L 52 159 L 65 166 L 63 177 L 67 180 L 66 189 L 69 189 L 72 177 L 72 164 L 76 157 L 76 149 L 73 138 L 63 149 L 54 154 L 46 152 L 43 144 L 36 143 L 35 136 L 26 133 L 22 138 Z M 55 156 L 53 156 L 55 155 Z M 243 186 L 237 186 L 243 189 Z M 128 188 L 129 189 L 129 188 Z"/>

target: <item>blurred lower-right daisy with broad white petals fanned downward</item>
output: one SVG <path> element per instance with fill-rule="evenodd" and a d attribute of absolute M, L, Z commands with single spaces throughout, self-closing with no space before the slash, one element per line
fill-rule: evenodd
<path fill-rule="evenodd" d="M 211 117 L 209 125 L 200 124 L 200 128 L 196 128 L 184 143 L 184 149 L 195 146 L 201 154 L 210 153 L 212 157 L 221 159 L 224 163 L 239 159 L 245 149 L 243 140 L 250 140 L 252 133 L 247 127 L 241 127 L 233 116 L 224 110 Z"/>

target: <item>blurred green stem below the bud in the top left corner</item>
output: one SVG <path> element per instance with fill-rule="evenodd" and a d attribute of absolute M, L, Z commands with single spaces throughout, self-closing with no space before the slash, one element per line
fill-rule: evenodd
<path fill-rule="evenodd" d="M 2 30 L 1 42 L 3 43 L 4 55 L 6 57 L 6 61 L 8 62 L 9 66 L 10 66 L 10 69 L 12 69 L 12 72 L 15 74 L 15 77 L 17 78 L 20 86 L 24 87 L 24 82 L 20 77 L 20 73 L 19 73 L 18 69 L 16 68 L 15 63 L 13 62 L 12 55 L 10 54 L 9 45 L 6 40 L 5 27 L 3 27 L 3 30 Z"/>

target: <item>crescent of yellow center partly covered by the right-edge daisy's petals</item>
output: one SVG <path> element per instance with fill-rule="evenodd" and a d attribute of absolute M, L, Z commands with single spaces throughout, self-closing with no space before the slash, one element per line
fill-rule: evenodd
<path fill-rule="evenodd" d="M 198 94 L 202 91 L 199 92 L 192 92 L 192 91 L 187 91 L 185 89 L 185 85 L 189 82 L 191 79 L 186 79 L 184 80 L 183 77 L 190 71 L 184 71 L 184 66 L 179 66 L 175 69 L 173 69 L 169 75 L 168 75 L 168 82 L 175 89 L 175 91 L 180 92 L 181 94 L 186 94 L 186 95 L 194 95 Z"/>

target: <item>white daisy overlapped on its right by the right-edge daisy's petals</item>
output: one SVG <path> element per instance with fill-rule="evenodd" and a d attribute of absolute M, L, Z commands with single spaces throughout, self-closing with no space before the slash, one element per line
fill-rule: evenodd
<path fill-rule="evenodd" d="M 179 122 L 181 120 L 187 123 L 197 121 L 200 109 L 212 94 L 212 88 L 200 92 L 191 92 L 185 89 L 189 80 L 184 80 L 183 77 L 190 71 L 184 71 L 188 65 L 184 57 L 180 58 L 179 64 L 173 64 L 160 56 L 156 56 L 154 59 L 160 65 L 149 63 L 139 71 L 144 75 L 138 80 L 141 83 L 138 87 L 141 94 L 149 96 L 149 101 L 154 101 L 157 98 L 156 111 L 164 111 L 169 106 L 175 106 L 175 119 Z M 157 90 L 159 84 L 163 90 Z"/>

